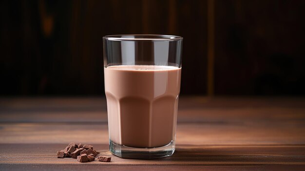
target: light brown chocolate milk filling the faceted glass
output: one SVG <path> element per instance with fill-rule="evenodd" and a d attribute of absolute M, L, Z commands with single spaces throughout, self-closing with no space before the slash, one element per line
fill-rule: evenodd
<path fill-rule="evenodd" d="M 110 140 L 135 148 L 174 140 L 181 68 L 120 65 L 104 68 Z"/>

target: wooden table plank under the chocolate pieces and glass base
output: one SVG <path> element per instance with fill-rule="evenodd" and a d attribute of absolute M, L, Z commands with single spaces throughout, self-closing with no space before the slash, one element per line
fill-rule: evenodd
<path fill-rule="evenodd" d="M 75 165 L 305 165 L 305 145 L 294 146 L 194 146 L 177 145 L 172 157 L 151 160 L 122 159 L 112 155 L 108 145 L 94 145 L 100 155 L 112 162 L 79 163 L 73 158 L 57 158 L 66 144 L 0 144 L 0 163 L 75 164 Z M 30 155 L 29 155 L 30 153 Z"/>

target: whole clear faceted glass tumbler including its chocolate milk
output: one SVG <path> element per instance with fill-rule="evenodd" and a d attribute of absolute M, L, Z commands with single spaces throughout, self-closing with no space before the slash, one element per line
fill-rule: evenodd
<path fill-rule="evenodd" d="M 171 156 L 175 150 L 183 38 L 103 37 L 109 148 L 122 158 Z"/>

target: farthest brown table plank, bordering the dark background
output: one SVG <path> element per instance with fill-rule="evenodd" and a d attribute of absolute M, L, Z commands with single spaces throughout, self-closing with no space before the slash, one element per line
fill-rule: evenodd
<path fill-rule="evenodd" d="M 178 122 L 268 123 L 274 120 L 304 123 L 305 98 L 186 96 L 179 99 Z M 106 99 L 0 98 L 0 121 L 107 122 Z"/>

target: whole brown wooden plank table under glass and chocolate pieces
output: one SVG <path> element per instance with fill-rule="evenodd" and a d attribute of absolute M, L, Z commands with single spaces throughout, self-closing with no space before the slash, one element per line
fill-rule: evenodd
<path fill-rule="evenodd" d="M 57 158 L 70 143 L 93 144 L 112 162 Z M 108 151 L 104 98 L 1 98 L 0 171 L 304 171 L 305 98 L 181 97 L 176 151 L 152 160 Z"/>

